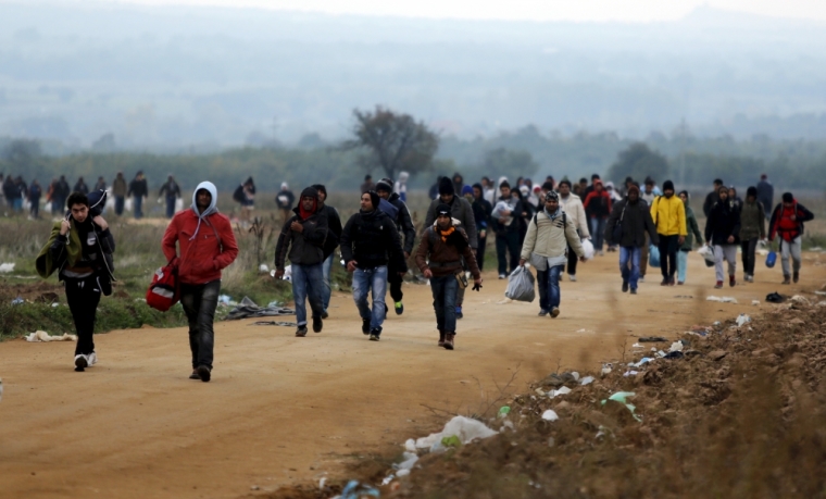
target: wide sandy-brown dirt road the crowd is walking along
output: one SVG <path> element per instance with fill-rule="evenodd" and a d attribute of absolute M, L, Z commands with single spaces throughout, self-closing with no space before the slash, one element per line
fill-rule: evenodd
<path fill-rule="evenodd" d="M 86 373 L 72 371 L 74 344 L 0 344 L 0 497 L 234 498 L 252 485 L 317 478 L 348 456 L 440 426 L 447 417 L 423 403 L 478 410 L 475 379 L 495 396 L 493 382 L 506 383 L 520 363 L 517 389 L 558 364 L 593 371 L 631 335 L 754 313 L 751 300 L 767 292 L 826 280 L 819 257 L 808 254 L 800 285 L 781 289 L 778 263 L 753 285 L 716 292 L 740 304 L 712 303 L 712 271 L 691 257 L 689 285 L 661 288 L 650 275 L 636 297 L 618 292 L 615 253 L 581 265 L 579 282 L 563 284 L 556 320 L 537 317 L 536 302 L 499 304 L 504 282 L 487 273 L 484 292 L 467 295 L 453 352 L 436 347 L 426 286 L 405 288 L 405 313 L 391 313 L 378 344 L 361 334 L 343 295 L 324 332 L 306 338 L 221 323 L 209 384 L 187 379 L 182 328 L 97 336 L 100 363 Z"/>

